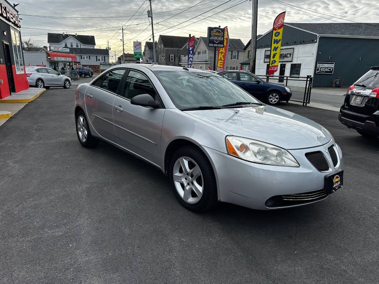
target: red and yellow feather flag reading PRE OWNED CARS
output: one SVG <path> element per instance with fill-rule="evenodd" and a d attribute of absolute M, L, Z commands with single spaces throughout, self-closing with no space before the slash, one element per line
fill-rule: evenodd
<path fill-rule="evenodd" d="M 278 70 L 280 47 L 282 46 L 284 17 L 285 17 L 285 11 L 280 13 L 274 20 L 273 37 L 271 39 L 271 49 L 270 49 L 270 66 L 268 68 L 268 75 L 272 75 Z"/>

